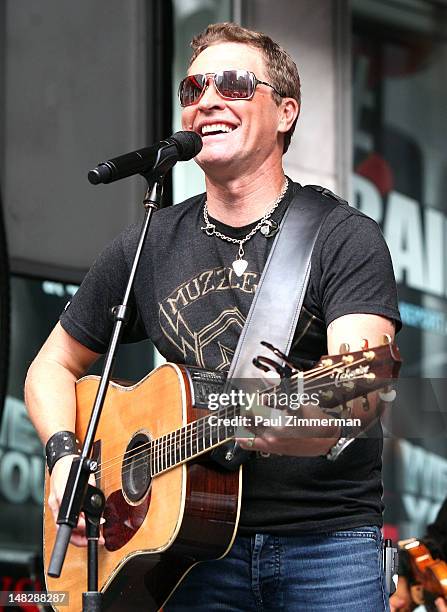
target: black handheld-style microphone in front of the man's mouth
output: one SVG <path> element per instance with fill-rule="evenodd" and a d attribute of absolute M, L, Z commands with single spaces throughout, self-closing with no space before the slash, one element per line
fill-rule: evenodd
<path fill-rule="evenodd" d="M 88 173 L 92 185 L 113 183 L 134 174 L 164 174 L 178 161 L 188 161 L 202 149 L 197 132 L 176 132 L 170 138 L 98 164 Z"/>

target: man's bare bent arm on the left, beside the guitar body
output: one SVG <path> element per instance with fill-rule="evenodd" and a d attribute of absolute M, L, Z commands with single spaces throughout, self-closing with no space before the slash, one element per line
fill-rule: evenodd
<path fill-rule="evenodd" d="M 75 430 L 76 380 L 97 360 L 58 323 L 31 364 L 25 381 L 25 402 L 43 444 L 58 431 Z M 51 474 L 48 505 L 56 520 L 73 455 L 59 459 Z M 81 516 L 71 542 L 85 546 L 85 522 Z"/>

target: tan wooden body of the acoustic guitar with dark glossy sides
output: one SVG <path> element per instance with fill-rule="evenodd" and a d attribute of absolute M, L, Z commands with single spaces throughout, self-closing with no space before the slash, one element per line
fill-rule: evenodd
<path fill-rule="evenodd" d="M 87 376 L 76 386 L 80 440 L 98 384 L 98 377 Z M 151 477 L 144 454 L 148 441 L 206 414 L 192 405 L 192 396 L 187 369 L 174 364 L 160 366 L 132 386 L 109 385 L 93 447 L 100 465 L 97 486 L 106 497 L 98 580 L 104 612 L 159 610 L 193 565 L 222 557 L 233 542 L 240 510 L 240 469 L 227 472 L 202 455 Z M 87 590 L 87 549 L 70 544 L 60 578 L 48 576 L 57 529 L 48 493 L 47 473 L 47 589 L 68 591 L 69 605 L 61 610 L 79 612 Z"/>

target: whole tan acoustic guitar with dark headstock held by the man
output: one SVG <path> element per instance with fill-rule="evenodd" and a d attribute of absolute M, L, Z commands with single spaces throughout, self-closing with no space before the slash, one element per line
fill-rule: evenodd
<path fill-rule="evenodd" d="M 295 371 L 287 379 L 289 390 L 294 382 L 304 382 L 305 392 L 317 393 L 320 405 L 335 412 L 355 397 L 366 397 L 383 387 L 384 379 L 396 378 L 401 363 L 389 337 L 382 346 L 366 346 L 325 356 L 304 374 Z M 209 410 L 209 394 L 222 391 L 224 382 L 223 373 L 167 363 L 136 384 L 110 383 L 92 452 L 98 462 L 96 483 L 106 497 L 105 545 L 99 550 L 104 611 L 160 610 L 193 565 L 230 549 L 238 526 L 242 469 L 227 471 L 209 457 L 211 449 L 235 437 L 231 423 L 241 413 L 240 406 Z M 98 384 L 96 376 L 76 384 L 80 440 Z M 48 494 L 47 473 L 45 500 Z M 69 605 L 62 612 L 79 612 L 87 551 L 70 544 L 61 576 L 50 577 L 56 529 L 46 501 L 46 586 L 68 591 Z"/>

